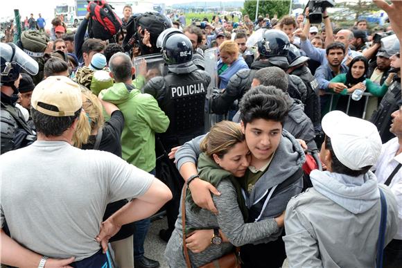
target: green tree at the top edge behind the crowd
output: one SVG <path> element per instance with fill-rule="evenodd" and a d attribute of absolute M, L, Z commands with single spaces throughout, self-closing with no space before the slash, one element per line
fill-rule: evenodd
<path fill-rule="evenodd" d="M 275 14 L 278 18 L 289 13 L 290 0 L 268 0 L 259 1 L 259 15 L 265 17 L 265 14 L 269 14 L 270 17 L 274 17 Z M 254 21 L 256 19 L 256 0 L 245 0 L 243 6 L 243 14 L 248 14 L 250 19 Z"/>

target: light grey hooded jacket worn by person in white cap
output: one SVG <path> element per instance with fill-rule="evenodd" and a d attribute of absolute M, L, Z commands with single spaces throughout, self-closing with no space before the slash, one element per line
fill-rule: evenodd
<path fill-rule="evenodd" d="M 283 241 L 290 267 L 375 267 L 381 219 L 380 187 L 387 200 L 385 244 L 396 233 L 398 207 L 371 171 L 351 177 L 313 170 L 314 188 L 290 200 Z"/>

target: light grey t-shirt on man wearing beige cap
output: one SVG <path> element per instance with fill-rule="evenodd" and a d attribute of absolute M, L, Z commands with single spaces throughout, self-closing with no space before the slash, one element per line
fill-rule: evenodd
<path fill-rule="evenodd" d="M 0 156 L 1 228 L 52 258 L 94 255 L 106 205 L 146 193 L 154 176 L 109 152 L 36 141 Z"/>

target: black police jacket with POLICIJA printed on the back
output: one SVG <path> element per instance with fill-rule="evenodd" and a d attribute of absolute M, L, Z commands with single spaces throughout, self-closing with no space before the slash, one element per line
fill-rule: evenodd
<path fill-rule="evenodd" d="M 204 109 L 211 78 L 206 71 L 168 72 L 165 77 L 152 78 L 143 92 L 156 98 L 171 124 L 161 134 L 165 148 L 182 145 L 194 136 L 204 134 Z"/>

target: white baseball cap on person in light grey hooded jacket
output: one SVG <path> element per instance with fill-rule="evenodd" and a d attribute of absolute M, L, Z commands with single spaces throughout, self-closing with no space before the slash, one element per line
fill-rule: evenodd
<path fill-rule="evenodd" d="M 322 118 L 322 129 L 331 138 L 333 152 L 351 170 L 374 166 L 381 153 L 381 137 L 373 123 L 330 111 Z"/>

